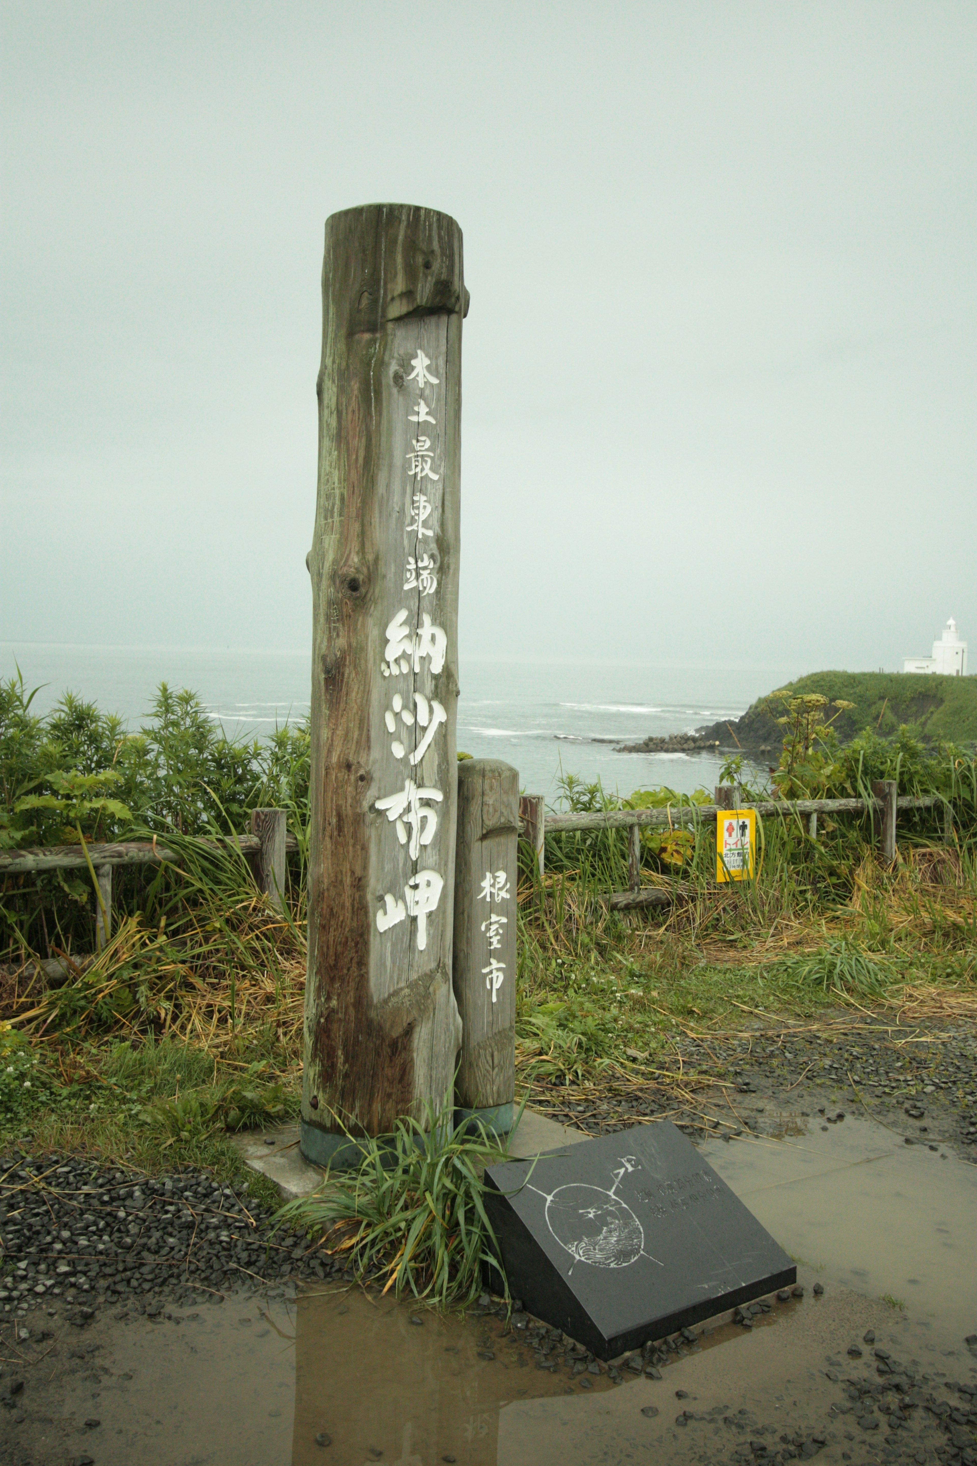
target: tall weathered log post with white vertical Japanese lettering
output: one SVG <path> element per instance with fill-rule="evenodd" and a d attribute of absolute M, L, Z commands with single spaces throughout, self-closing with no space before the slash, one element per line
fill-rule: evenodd
<path fill-rule="evenodd" d="M 322 262 L 302 1151 L 450 1101 L 461 230 L 371 204 Z"/>

